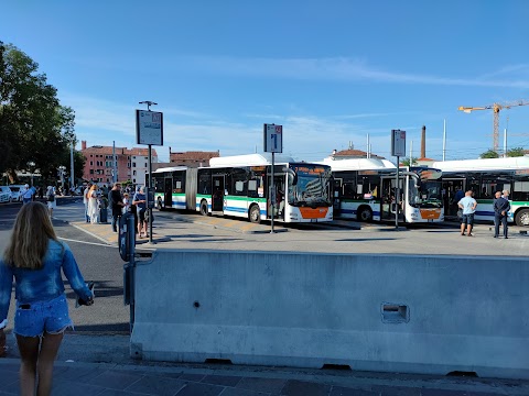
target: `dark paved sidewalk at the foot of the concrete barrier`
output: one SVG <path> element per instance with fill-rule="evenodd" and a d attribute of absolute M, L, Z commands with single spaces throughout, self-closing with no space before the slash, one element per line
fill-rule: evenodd
<path fill-rule="evenodd" d="M 8 336 L 10 356 L 13 337 Z M 528 395 L 521 381 L 345 370 L 142 362 L 128 358 L 127 336 L 67 334 L 52 395 L 492 396 Z M 19 360 L 0 359 L 0 395 L 17 395 Z"/>

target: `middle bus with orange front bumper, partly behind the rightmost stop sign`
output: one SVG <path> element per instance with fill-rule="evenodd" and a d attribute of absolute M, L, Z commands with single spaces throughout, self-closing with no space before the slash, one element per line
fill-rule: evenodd
<path fill-rule="evenodd" d="M 397 167 L 387 160 L 325 160 L 334 177 L 335 218 L 395 221 Z M 427 167 L 399 169 L 399 222 L 444 221 L 441 172 Z"/>

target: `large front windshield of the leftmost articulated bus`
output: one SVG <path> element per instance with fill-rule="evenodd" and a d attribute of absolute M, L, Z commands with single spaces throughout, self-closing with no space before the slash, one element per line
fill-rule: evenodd
<path fill-rule="evenodd" d="M 296 183 L 289 186 L 289 204 L 295 207 L 332 206 L 331 168 L 319 165 L 291 165 Z"/>

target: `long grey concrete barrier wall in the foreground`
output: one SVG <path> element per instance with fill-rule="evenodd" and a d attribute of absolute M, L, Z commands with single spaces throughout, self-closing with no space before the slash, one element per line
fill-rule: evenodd
<path fill-rule="evenodd" d="M 143 360 L 529 378 L 529 263 L 158 251 L 136 268 Z"/>

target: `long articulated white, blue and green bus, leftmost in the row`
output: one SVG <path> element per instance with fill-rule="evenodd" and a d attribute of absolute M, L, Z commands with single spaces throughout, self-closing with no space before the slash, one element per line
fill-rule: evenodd
<path fill-rule="evenodd" d="M 331 167 L 276 155 L 273 191 L 271 154 L 209 160 L 208 167 L 169 167 L 153 172 L 159 209 L 241 217 L 251 222 L 333 220 Z"/>

